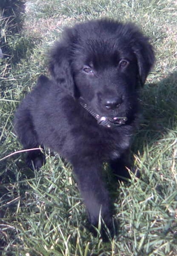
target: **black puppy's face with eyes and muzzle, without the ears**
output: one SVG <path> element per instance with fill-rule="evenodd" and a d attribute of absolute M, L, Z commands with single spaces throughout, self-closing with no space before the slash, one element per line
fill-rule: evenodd
<path fill-rule="evenodd" d="M 90 40 L 88 46 L 73 61 L 78 96 L 100 124 L 124 124 L 137 104 L 136 56 L 123 44 Z"/>

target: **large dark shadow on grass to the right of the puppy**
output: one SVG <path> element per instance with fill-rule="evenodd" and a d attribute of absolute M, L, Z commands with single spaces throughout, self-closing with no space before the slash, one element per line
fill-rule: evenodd
<path fill-rule="evenodd" d="M 143 146 L 151 146 L 177 127 L 177 72 L 165 79 L 147 84 L 142 93 L 143 120 L 137 132 L 133 151 L 143 153 Z"/>

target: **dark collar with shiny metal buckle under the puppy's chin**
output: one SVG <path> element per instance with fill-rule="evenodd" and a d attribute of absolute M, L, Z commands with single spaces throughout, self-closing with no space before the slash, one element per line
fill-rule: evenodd
<path fill-rule="evenodd" d="M 114 117 L 108 117 L 108 116 L 101 116 L 97 113 L 95 113 L 85 102 L 85 100 L 80 97 L 79 98 L 80 105 L 86 109 L 94 118 L 97 120 L 97 123 L 99 125 L 103 125 L 107 128 L 116 128 L 120 125 L 124 125 L 127 121 L 126 116 L 114 116 Z"/>

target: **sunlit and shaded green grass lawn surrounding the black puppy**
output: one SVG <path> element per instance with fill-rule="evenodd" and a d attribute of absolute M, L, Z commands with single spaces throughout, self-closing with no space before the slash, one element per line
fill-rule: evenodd
<path fill-rule="evenodd" d="M 46 152 L 39 172 L 24 153 L 0 160 L 0 255 L 177 255 L 177 4 L 170 0 L 1 1 L 0 159 L 22 146 L 13 132 L 18 102 L 41 73 L 64 26 L 86 19 L 131 20 L 151 37 L 156 65 L 142 90 L 143 119 L 132 145 L 141 179 L 117 185 L 118 236 L 109 243 L 86 228 L 71 166 Z M 20 11 L 19 11 L 20 10 Z"/>

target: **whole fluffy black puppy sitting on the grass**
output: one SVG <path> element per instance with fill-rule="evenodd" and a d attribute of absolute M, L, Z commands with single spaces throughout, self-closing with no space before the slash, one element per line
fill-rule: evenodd
<path fill-rule="evenodd" d="M 93 20 L 65 30 L 50 54 L 51 79 L 40 76 L 20 104 L 14 127 L 24 148 L 57 151 L 74 168 L 90 223 L 113 235 L 102 165 L 128 176 L 126 152 L 138 121 L 138 89 L 154 63 L 148 38 L 131 23 Z M 40 151 L 27 154 L 39 169 Z M 104 224 L 101 234 L 105 236 Z"/>

